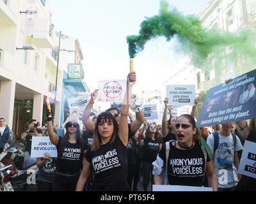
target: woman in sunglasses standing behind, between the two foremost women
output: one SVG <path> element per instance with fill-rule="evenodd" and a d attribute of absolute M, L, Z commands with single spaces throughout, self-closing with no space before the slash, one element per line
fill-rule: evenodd
<path fill-rule="evenodd" d="M 143 175 L 143 189 L 148 191 L 148 184 L 154 184 L 154 177 L 152 175 L 152 162 L 156 160 L 158 152 L 162 147 L 162 138 L 156 124 L 150 124 L 144 133 L 144 128 L 141 130 L 139 137 L 143 138 L 144 146 L 142 148 L 142 165 L 141 171 Z"/>

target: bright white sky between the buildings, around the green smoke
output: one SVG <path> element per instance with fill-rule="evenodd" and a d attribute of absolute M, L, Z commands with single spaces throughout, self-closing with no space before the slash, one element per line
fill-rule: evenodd
<path fill-rule="evenodd" d="M 170 6 L 184 15 L 197 15 L 210 0 L 172 0 Z M 74 36 L 81 44 L 84 81 L 92 92 L 99 80 L 126 79 L 129 52 L 126 37 L 138 34 L 145 17 L 158 15 L 161 0 L 49 0 L 56 30 Z M 177 42 L 149 41 L 134 58 L 137 82 L 134 92 L 160 89 L 184 57 Z"/>

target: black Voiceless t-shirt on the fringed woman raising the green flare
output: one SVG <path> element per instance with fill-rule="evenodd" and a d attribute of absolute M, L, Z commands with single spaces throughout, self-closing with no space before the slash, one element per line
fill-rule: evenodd
<path fill-rule="evenodd" d="M 84 154 L 92 164 L 95 191 L 128 191 L 127 184 L 127 147 L 116 136 L 115 142 L 100 145 L 92 152 L 91 147 Z"/>

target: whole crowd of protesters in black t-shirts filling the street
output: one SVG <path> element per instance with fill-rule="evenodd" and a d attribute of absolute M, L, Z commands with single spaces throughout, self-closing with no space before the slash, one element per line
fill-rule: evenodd
<path fill-rule="evenodd" d="M 46 109 L 45 136 L 56 145 L 58 157 L 45 153 L 36 159 L 38 191 L 138 191 L 141 175 L 144 191 L 166 184 L 256 191 L 256 179 L 237 173 L 244 141 L 256 142 L 255 119 L 196 128 L 198 101 L 190 115 L 174 116 L 166 98 L 161 126 L 145 120 L 138 106 L 131 108 L 136 112 L 132 120 L 135 82 L 136 74 L 129 73 L 121 111 L 109 108 L 98 116 L 92 115 L 98 94 L 93 91 L 83 112 L 83 131 L 71 120 L 65 124 L 65 135 L 58 136 Z M 42 136 L 35 122 L 21 135 L 29 154 L 31 137 Z"/>

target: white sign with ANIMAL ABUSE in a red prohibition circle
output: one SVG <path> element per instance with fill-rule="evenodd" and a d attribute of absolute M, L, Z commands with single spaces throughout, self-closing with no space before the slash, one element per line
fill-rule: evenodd
<path fill-rule="evenodd" d="M 103 80 L 98 82 L 98 102 L 122 102 L 126 90 L 126 80 Z"/>

